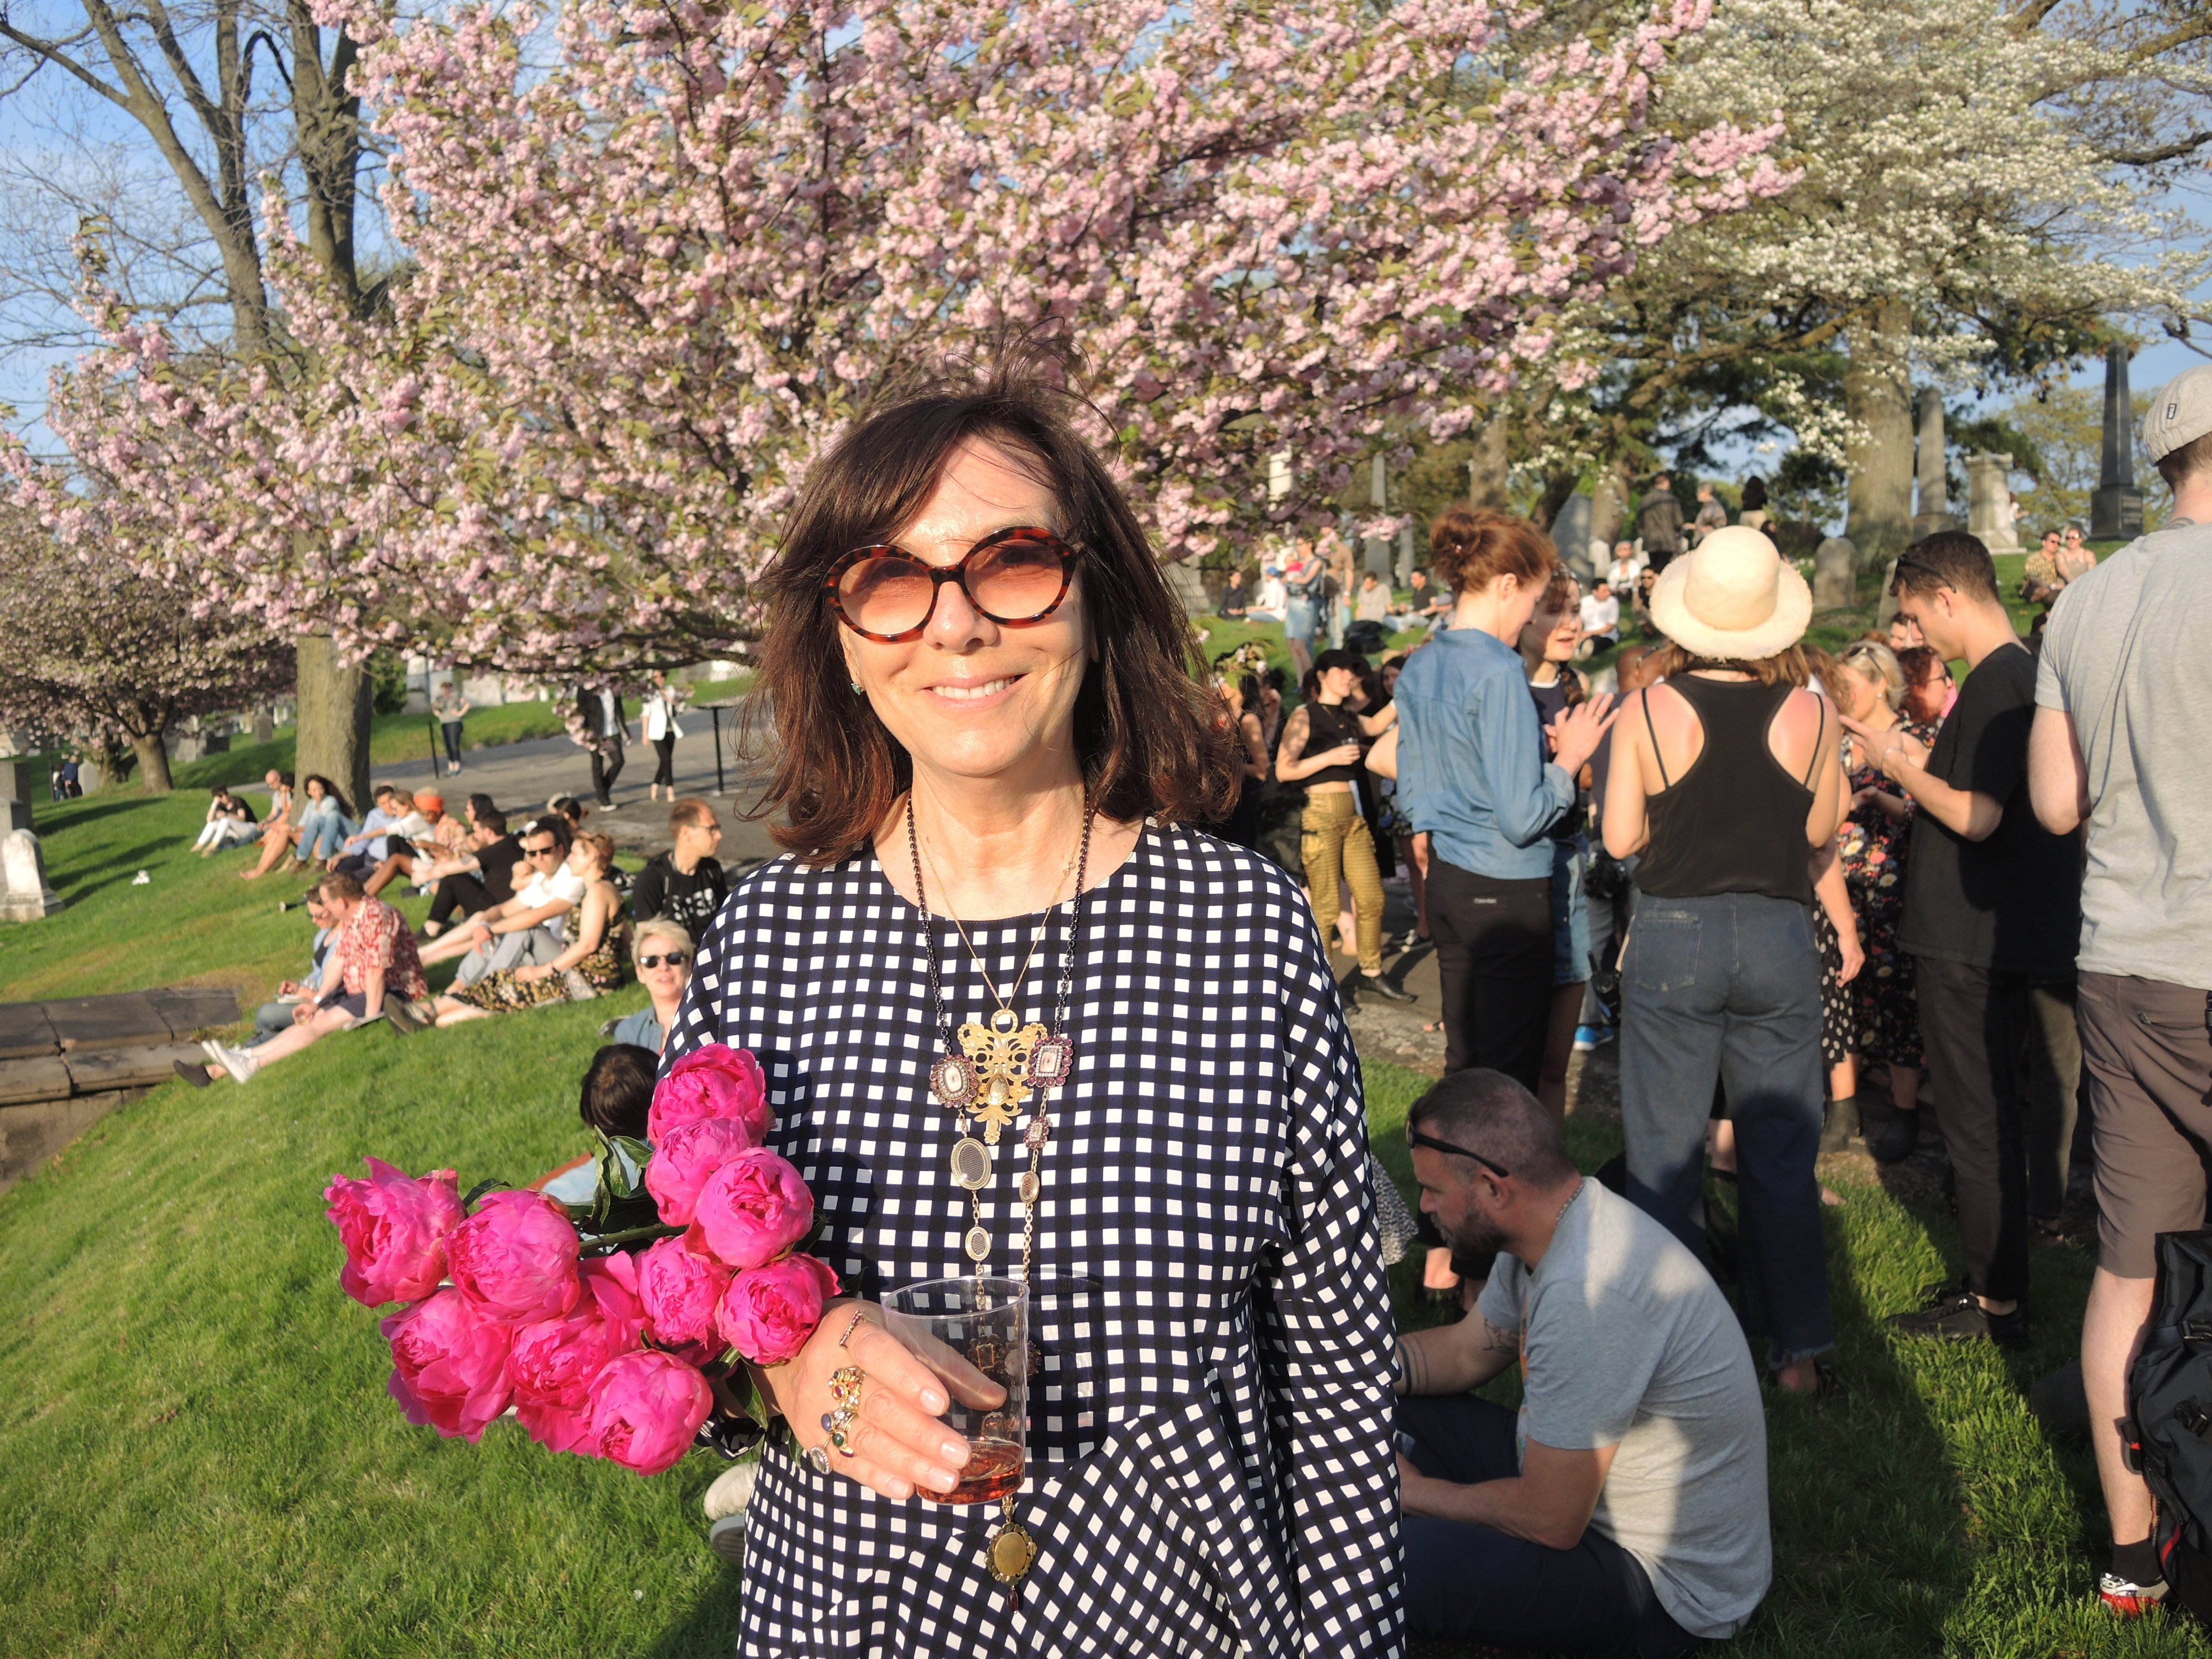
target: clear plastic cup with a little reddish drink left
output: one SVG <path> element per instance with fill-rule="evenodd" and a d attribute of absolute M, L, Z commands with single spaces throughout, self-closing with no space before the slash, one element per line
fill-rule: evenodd
<path fill-rule="evenodd" d="M 1020 1279 L 931 1279 L 883 1298 L 883 1321 L 936 1371 L 947 1427 L 973 1455 L 940 1504 L 995 1504 L 1022 1486 L 1029 1451 L 1029 1285 Z"/>

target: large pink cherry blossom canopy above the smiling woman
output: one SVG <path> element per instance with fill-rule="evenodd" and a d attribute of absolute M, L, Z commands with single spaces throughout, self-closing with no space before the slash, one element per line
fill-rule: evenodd
<path fill-rule="evenodd" d="M 1394 418 L 1449 436 L 1528 365 L 1575 385 L 1562 316 L 1787 181 L 1770 126 L 1652 122 L 1708 11 L 1524 49 L 1537 13 L 1475 0 L 595 0 L 546 27 L 325 0 L 405 281 L 365 316 L 276 212 L 290 358 L 188 358 L 111 303 L 49 411 L 100 500 L 29 495 L 347 650 L 681 661 L 745 633 L 867 398 L 1042 332 L 1161 553 L 1241 544 L 1321 520 Z"/>

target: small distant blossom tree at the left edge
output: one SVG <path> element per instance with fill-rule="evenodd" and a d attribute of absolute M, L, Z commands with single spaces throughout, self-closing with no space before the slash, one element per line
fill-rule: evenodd
<path fill-rule="evenodd" d="M 0 509 L 0 723 L 122 737 L 148 794 L 168 794 L 161 734 L 294 681 L 292 644 L 252 617 L 195 615 L 195 595 L 119 560 L 80 557 L 20 507 Z"/>

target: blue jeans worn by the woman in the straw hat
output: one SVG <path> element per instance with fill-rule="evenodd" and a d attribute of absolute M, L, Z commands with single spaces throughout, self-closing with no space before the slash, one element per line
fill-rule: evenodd
<path fill-rule="evenodd" d="M 1820 958 L 1805 905 L 1637 894 L 1621 953 L 1628 1197 L 1705 1256 L 1705 1119 L 1736 1124 L 1745 1336 L 1781 1367 L 1836 1345 L 1820 1239 Z"/>

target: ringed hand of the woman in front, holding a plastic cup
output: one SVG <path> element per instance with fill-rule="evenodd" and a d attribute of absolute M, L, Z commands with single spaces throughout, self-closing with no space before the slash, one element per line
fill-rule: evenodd
<path fill-rule="evenodd" d="M 830 1431 L 823 1429 L 823 1416 L 834 1409 L 830 1378 L 845 1365 L 858 1365 L 865 1374 L 860 1407 L 845 1431 L 854 1451 L 849 1458 L 830 1447 Z M 960 1469 L 973 1449 L 942 1422 L 942 1413 L 951 1409 L 945 1383 L 883 1327 L 876 1303 L 830 1303 L 799 1358 L 765 1371 L 763 1380 L 799 1444 L 827 1447 L 830 1467 L 869 1491 L 907 1500 L 916 1491 L 929 1498 L 960 1484 Z M 991 1398 L 973 1398 L 971 1405 L 1004 1400 L 1004 1389 L 980 1374 L 975 1383 Z"/>

